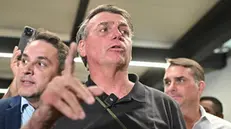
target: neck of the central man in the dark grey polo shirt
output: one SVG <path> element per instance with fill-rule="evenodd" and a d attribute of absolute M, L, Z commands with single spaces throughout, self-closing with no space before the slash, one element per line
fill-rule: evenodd
<path fill-rule="evenodd" d="M 117 67 L 89 67 L 91 79 L 107 95 L 114 93 L 119 99 L 126 96 L 134 86 L 128 79 L 127 69 Z"/>

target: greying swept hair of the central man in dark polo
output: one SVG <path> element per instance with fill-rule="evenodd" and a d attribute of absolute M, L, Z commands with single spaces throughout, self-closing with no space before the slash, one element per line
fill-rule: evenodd
<path fill-rule="evenodd" d="M 88 25 L 89 21 L 95 15 L 97 15 L 101 12 L 109 12 L 109 13 L 119 14 L 119 15 L 123 16 L 126 19 L 128 26 L 133 33 L 133 25 L 132 25 L 131 16 L 129 15 L 129 13 L 126 10 L 121 9 L 117 6 L 110 5 L 110 4 L 104 4 L 104 5 L 99 5 L 95 9 L 91 10 L 89 15 L 87 15 L 85 20 L 82 22 L 82 24 L 80 25 L 79 30 L 76 34 L 76 42 L 77 43 L 79 43 L 80 40 L 87 37 L 87 35 L 88 35 L 87 25 Z M 84 65 L 87 67 L 87 58 L 86 57 L 81 57 L 81 58 L 83 60 Z"/>

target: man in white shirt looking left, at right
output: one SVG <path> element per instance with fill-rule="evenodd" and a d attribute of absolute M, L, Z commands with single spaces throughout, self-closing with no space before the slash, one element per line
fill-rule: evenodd
<path fill-rule="evenodd" d="M 205 88 L 204 70 L 187 58 L 167 59 L 164 92 L 180 105 L 187 129 L 231 129 L 231 123 L 206 113 L 200 105 Z"/>

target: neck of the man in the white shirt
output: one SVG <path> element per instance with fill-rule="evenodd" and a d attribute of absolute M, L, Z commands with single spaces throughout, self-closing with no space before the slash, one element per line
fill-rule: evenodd
<path fill-rule="evenodd" d="M 200 119 L 200 106 L 199 104 L 191 104 L 190 106 L 181 107 L 187 129 L 192 129 L 194 124 Z"/>

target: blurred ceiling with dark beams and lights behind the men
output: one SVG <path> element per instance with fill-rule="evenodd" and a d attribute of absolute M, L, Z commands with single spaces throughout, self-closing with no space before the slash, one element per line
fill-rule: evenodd
<path fill-rule="evenodd" d="M 75 41 L 86 13 L 100 4 L 127 10 L 134 25 L 133 61 L 165 63 L 168 57 L 198 61 L 206 71 L 203 95 L 215 96 L 231 121 L 231 0 L 0 0 L 0 88 L 6 89 L 13 74 L 10 57 L 24 26 L 57 33 L 68 45 Z M 144 84 L 163 90 L 164 68 L 131 64 Z M 76 62 L 76 76 L 83 82 L 88 72 Z M 3 92 L 1 93 L 1 96 Z"/>

